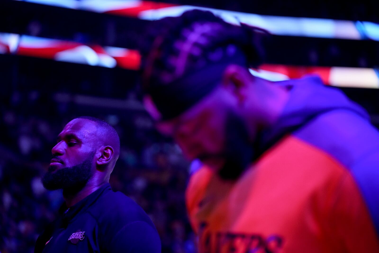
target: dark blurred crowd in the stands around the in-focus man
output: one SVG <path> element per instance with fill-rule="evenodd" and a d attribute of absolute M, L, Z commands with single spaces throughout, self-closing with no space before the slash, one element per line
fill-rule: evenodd
<path fill-rule="evenodd" d="M 162 252 L 196 252 L 184 200 L 189 164 L 180 149 L 155 132 L 141 110 L 82 109 L 39 91 L 13 93 L 1 105 L 0 252 L 33 252 L 38 235 L 55 219 L 62 192 L 45 190 L 40 180 L 56 136 L 81 115 L 104 119 L 119 133 L 121 154 L 110 184 L 147 212 L 160 234 Z"/>

